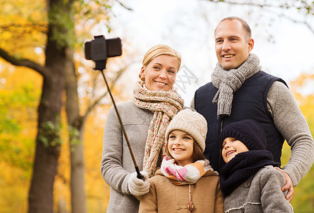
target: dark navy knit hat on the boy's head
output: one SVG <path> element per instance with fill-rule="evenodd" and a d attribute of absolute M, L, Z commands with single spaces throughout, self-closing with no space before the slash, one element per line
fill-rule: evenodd
<path fill-rule="evenodd" d="M 247 146 L 249 151 L 266 150 L 266 134 L 262 126 L 254 120 L 242 120 L 225 126 L 220 133 L 220 146 L 225 138 L 232 137 L 241 141 Z"/>

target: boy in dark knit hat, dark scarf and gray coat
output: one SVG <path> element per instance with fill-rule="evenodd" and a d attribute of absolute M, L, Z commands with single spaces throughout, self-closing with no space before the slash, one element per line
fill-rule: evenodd
<path fill-rule="evenodd" d="M 284 175 L 276 170 L 264 129 L 257 121 L 242 120 L 220 133 L 223 160 L 220 189 L 225 212 L 293 212 L 286 200 Z"/>

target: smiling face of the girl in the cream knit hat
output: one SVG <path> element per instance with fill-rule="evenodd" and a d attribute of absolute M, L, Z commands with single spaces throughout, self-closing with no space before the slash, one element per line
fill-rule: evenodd
<path fill-rule="evenodd" d="M 168 151 L 172 158 L 176 160 L 177 165 L 184 166 L 188 163 L 194 163 L 193 160 L 194 138 L 181 130 L 174 130 L 169 133 Z"/>

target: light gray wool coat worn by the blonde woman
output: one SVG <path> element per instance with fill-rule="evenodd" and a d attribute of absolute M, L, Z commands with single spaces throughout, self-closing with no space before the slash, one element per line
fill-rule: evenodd
<path fill-rule="evenodd" d="M 142 170 L 150 121 L 153 113 L 133 102 L 117 104 L 138 168 Z M 107 212 L 138 212 L 140 202 L 128 190 L 128 180 L 135 172 L 133 161 L 113 107 L 108 112 L 103 133 L 101 174 L 111 187 Z"/>

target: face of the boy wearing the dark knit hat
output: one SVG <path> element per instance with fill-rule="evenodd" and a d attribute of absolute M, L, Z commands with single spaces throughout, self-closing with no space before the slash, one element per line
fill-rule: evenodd
<path fill-rule="evenodd" d="M 235 138 L 225 138 L 223 140 L 223 160 L 225 160 L 225 163 L 229 163 L 229 161 L 235 157 L 238 153 L 247 152 L 249 149 L 247 146 L 245 146 L 244 143 L 241 141 L 235 139 Z"/>

